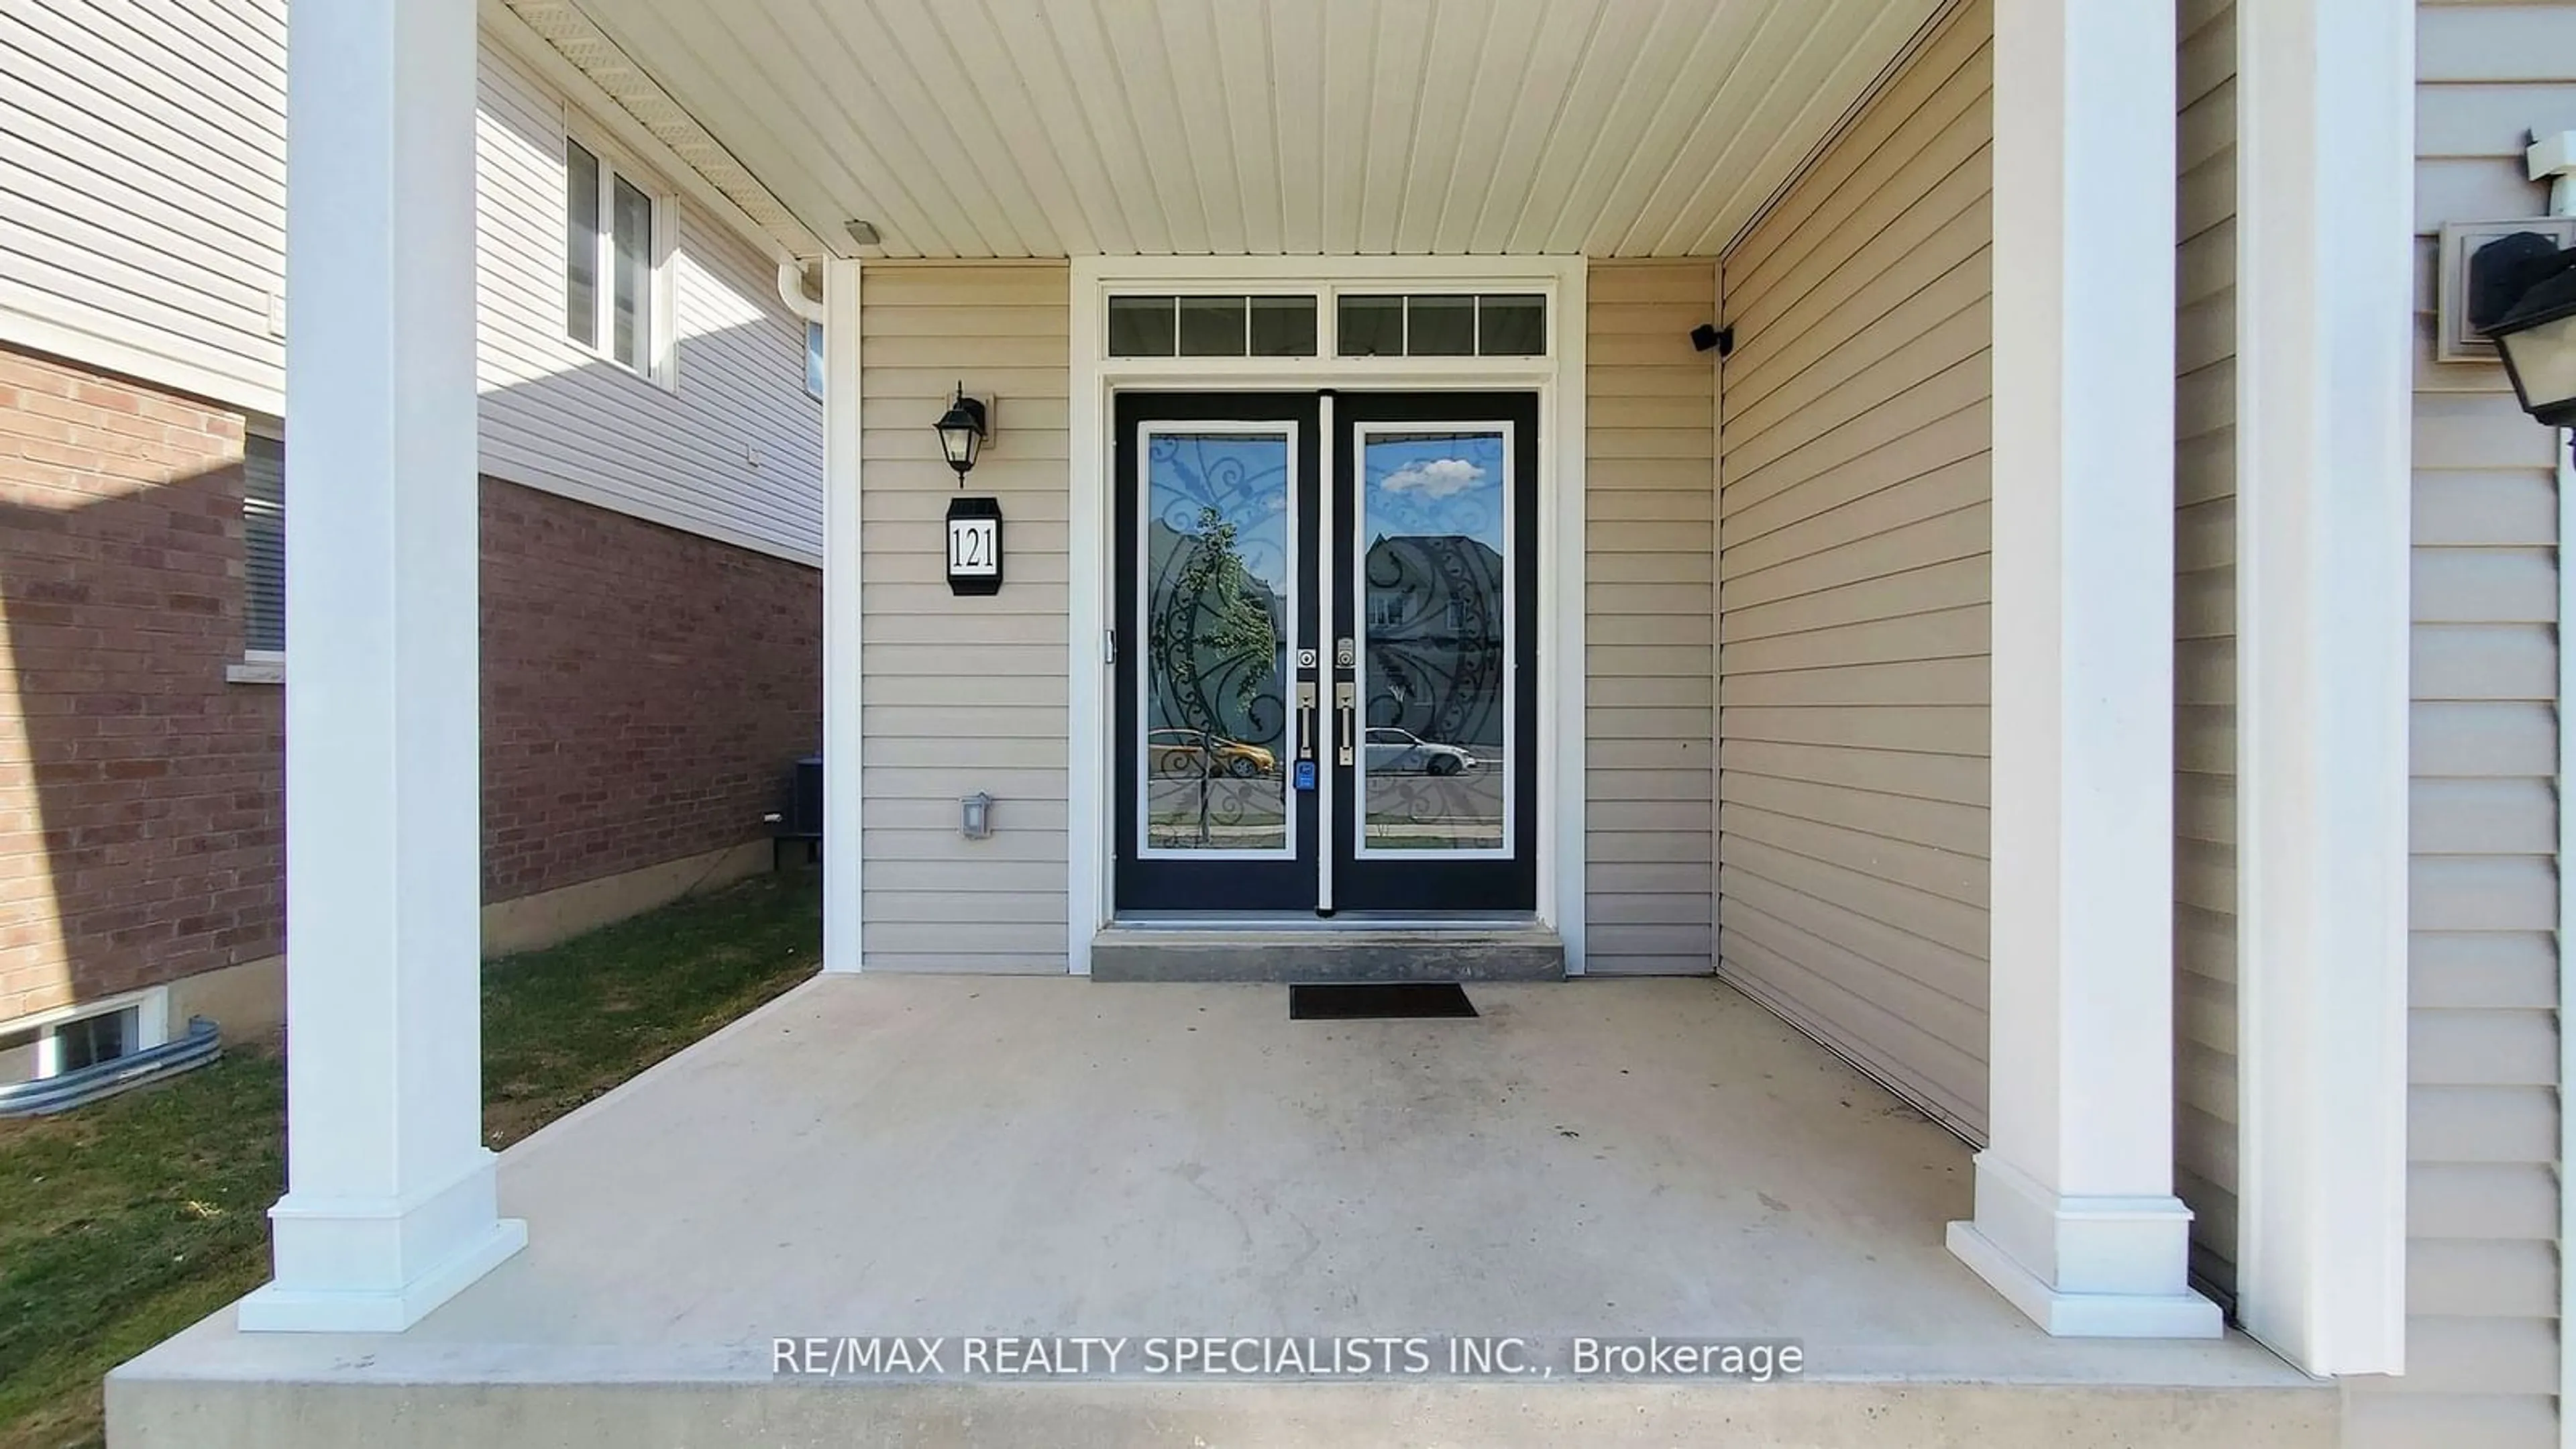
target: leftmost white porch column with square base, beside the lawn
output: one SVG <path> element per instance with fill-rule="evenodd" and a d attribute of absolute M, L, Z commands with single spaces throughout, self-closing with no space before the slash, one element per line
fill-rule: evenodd
<path fill-rule="evenodd" d="M 399 1330 L 528 1240 L 482 1147 L 474 0 L 289 21 L 286 1196 L 240 1323 Z"/>

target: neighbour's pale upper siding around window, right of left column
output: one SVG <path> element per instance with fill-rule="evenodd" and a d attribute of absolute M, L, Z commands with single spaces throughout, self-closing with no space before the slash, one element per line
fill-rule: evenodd
<path fill-rule="evenodd" d="M 477 93 L 482 467 L 747 549 L 822 562 L 822 405 L 778 268 L 672 214 L 672 384 L 564 335 L 564 101 L 489 41 Z M 580 137 L 611 162 L 626 157 Z M 636 170 L 647 188 L 667 180 Z"/>

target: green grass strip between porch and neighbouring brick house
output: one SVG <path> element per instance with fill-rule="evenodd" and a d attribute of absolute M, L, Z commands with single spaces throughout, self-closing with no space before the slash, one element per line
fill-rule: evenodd
<path fill-rule="evenodd" d="M 507 1147 L 822 962 L 811 874 L 762 877 L 484 967 L 484 1140 Z M 0 1122 L 0 1449 L 100 1444 L 100 1377 L 268 1276 L 286 1067 Z"/>

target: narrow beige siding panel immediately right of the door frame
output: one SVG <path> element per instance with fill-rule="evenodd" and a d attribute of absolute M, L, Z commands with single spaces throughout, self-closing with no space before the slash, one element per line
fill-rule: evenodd
<path fill-rule="evenodd" d="M 1716 964 L 1713 260 L 1595 263 L 1584 438 L 1584 969 Z"/>

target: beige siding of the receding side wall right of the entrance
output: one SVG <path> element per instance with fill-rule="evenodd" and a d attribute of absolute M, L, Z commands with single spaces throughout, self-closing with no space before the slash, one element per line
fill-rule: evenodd
<path fill-rule="evenodd" d="M 1721 972 L 1986 1122 L 1994 10 L 1726 260 Z"/>

